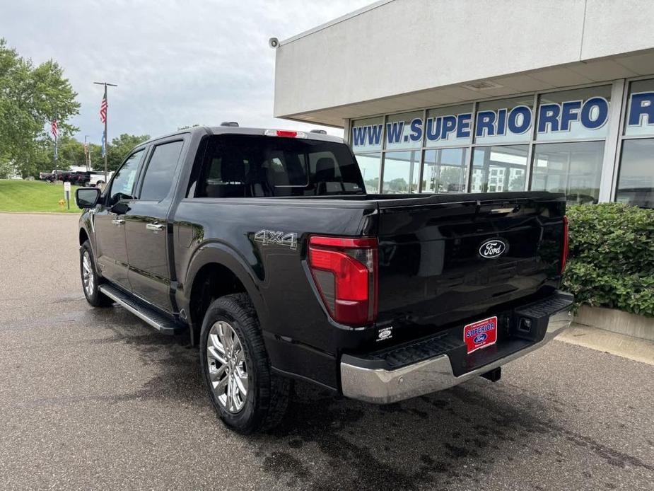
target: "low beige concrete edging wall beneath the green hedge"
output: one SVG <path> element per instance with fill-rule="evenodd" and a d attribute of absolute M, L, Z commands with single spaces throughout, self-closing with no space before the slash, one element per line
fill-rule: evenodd
<path fill-rule="evenodd" d="M 653 317 L 636 316 L 613 308 L 583 305 L 575 316 L 575 322 L 591 328 L 654 341 Z"/>

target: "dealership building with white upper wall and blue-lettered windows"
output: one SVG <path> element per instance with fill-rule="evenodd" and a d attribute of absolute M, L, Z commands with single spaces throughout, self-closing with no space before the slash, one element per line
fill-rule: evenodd
<path fill-rule="evenodd" d="M 343 127 L 368 192 L 654 207 L 654 1 L 383 0 L 276 49 L 276 117 Z"/>

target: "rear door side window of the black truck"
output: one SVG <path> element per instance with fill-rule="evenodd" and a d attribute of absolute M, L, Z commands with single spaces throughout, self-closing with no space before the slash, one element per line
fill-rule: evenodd
<path fill-rule="evenodd" d="M 141 187 L 141 200 L 161 201 L 168 196 L 183 144 L 183 141 L 171 141 L 154 147 Z"/>

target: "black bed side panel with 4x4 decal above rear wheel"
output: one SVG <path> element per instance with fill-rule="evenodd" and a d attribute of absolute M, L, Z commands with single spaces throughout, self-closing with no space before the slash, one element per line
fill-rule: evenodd
<path fill-rule="evenodd" d="M 323 311 L 303 265 L 307 238 L 373 235 L 375 210 L 366 202 L 335 206 L 329 200 L 182 200 L 173 224 L 177 301 L 187 308 L 194 274 L 204 262 L 222 258 L 250 293 L 264 333 L 334 354 L 338 328 Z M 264 240 L 273 236 L 286 240 Z"/>

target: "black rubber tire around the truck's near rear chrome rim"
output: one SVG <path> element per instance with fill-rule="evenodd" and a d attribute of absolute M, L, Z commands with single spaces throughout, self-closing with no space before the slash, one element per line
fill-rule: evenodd
<path fill-rule="evenodd" d="M 209 376 L 209 333 L 219 321 L 230 325 L 243 347 L 247 367 L 247 395 L 238 412 L 228 410 L 216 396 Z M 264 431 L 281 422 L 290 398 L 292 381 L 274 374 L 259 320 L 247 294 L 232 294 L 214 300 L 204 315 L 200 333 L 200 362 L 204 382 L 218 417 L 241 434 Z"/>

